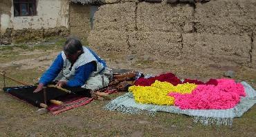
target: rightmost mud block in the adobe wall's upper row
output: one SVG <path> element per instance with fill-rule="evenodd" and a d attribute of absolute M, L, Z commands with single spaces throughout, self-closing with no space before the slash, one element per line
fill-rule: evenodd
<path fill-rule="evenodd" d="M 256 26 L 255 0 L 216 0 L 196 3 L 196 31 L 212 34 L 243 34 Z"/>

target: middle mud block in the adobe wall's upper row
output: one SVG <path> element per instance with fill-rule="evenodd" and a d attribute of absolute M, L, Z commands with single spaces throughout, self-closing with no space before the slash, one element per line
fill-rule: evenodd
<path fill-rule="evenodd" d="M 137 26 L 140 31 L 183 32 L 191 25 L 194 9 L 189 4 L 138 3 Z"/>

